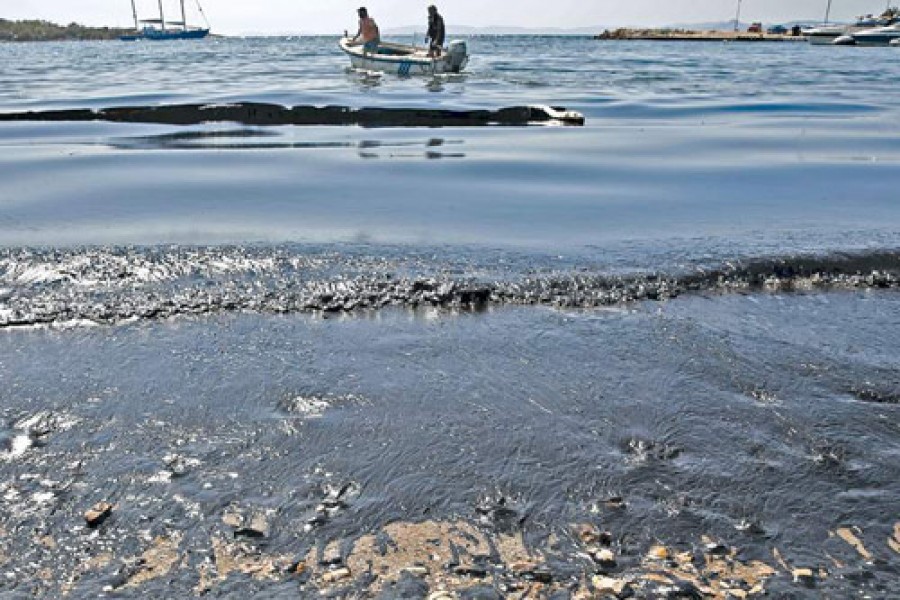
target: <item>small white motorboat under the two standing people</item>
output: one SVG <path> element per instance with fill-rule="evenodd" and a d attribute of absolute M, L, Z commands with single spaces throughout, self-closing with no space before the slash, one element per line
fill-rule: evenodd
<path fill-rule="evenodd" d="M 350 57 L 354 69 L 379 71 L 392 75 L 439 75 L 459 73 L 469 63 L 469 48 L 463 41 L 450 42 L 438 58 L 428 56 L 426 48 L 381 42 L 376 52 L 366 52 L 363 46 L 351 45 L 350 38 L 339 42 L 341 50 Z"/>

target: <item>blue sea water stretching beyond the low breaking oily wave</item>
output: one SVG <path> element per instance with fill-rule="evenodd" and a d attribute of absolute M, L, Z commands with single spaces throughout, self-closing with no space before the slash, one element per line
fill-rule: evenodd
<path fill-rule="evenodd" d="M 551 104 L 584 113 L 587 126 L 219 124 L 190 128 L 219 135 L 188 152 L 165 144 L 185 128 L 4 125 L 0 242 L 896 246 L 893 49 L 530 37 L 470 45 L 468 73 L 439 79 L 347 72 L 331 38 L 4 45 L 4 111 Z"/>

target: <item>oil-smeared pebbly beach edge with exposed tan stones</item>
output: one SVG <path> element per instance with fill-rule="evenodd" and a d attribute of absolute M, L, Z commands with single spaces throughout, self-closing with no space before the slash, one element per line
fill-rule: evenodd
<path fill-rule="evenodd" d="M 298 398 L 285 410 L 315 420 L 322 417 L 315 410 L 330 410 L 339 400 Z M 298 522 L 264 497 L 183 496 L 180 481 L 212 475 L 213 465 L 192 458 L 189 449 L 167 454 L 150 487 L 137 473 L 121 473 L 128 483 L 91 506 L 86 499 L 98 496 L 85 483 L 102 477 L 94 471 L 96 457 L 81 454 L 62 465 L 78 454 L 53 451 L 54 438 L 85 425 L 51 411 L 13 425 L 29 441 L 0 453 L 0 468 L 17 473 L 0 485 L 0 569 L 6 573 L 0 589 L 75 598 L 177 589 L 197 597 L 254 591 L 271 597 L 732 600 L 771 593 L 811 598 L 874 586 L 872 597 L 888 597 L 877 595 L 887 593 L 878 580 L 900 555 L 900 522 L 866 530 L 836 526 L 815 562 L 791 557 L 777 536 L 752 521 L 742 521 L 729 537 L 700 530 L 648 539 L 620 524 L 634 510 L 620 496 L 601 497 L 581 520 L 540 528 L 537 535 L 526 526 L 524 507 L 502 496 L 483 498 L 468 518 L 356 523 L 362 533 L 346 535 L 329 525 L 355 520 L 365 498 L 359 484 L 317 469 L 310 510 Z M 50 472 L 35 473 L 47 467 Z M 244 476 L 249 473 L 228 475 Z M 20 555 L 17 545 L 26 541 L 31 547 Z"/>

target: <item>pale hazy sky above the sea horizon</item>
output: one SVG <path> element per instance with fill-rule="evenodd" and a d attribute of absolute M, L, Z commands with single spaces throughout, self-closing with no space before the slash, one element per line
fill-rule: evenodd
<path fill-rule="evenodd" d="M 152 15 L 157 0 L 136 0 Z M 187 0 L 194 5 L 196 0 Z M 365 4 L 383 29 L 424 22 L 434 0 L 200 0 L 217 33 L 338 33 L 355 25 Z M 827 0 L 743 0 L 743 21 L 821 20 Z M 737 0 L 446 0 L 435 2 L 453 23 L 474 26 L 585 27 L 665 25 L 733 19 Z M 175 14 L 177 0 L 164 0 Z M 896 4 L 896 2 L 895 2 Z M 832 16 L 849 20 L 881 12 L 884 0 L 833 0 Z M 196 14 L 196 9 L 192 11 Z M 191 13 L 189 13 L 191 14 Z M 38 18 L 89 25 L 129 25 L 130 0 L 0 0 L 0 18 Z M 193 20 L 190 16 L 189 21 Z"/>

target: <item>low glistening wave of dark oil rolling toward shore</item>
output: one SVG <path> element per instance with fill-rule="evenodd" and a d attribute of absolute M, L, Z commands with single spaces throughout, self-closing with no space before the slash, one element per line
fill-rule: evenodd
<path fill-rule="evenodd" d="M 343 264 L 335 256 L 256 256 L 227 248 L 8 250 L 0 254 L 0 329 L 238 311 L 336 314 L 503 305 L 591 309 L 686 294 L 900 287 L 896 251 L 754 259 L 669 275 L 576 270 L 507 274 L 490 281 L 428 274 L 427 266 L 418 269 L 425 272 L 404 274 L 391 261 L 379 259 Z"/>

